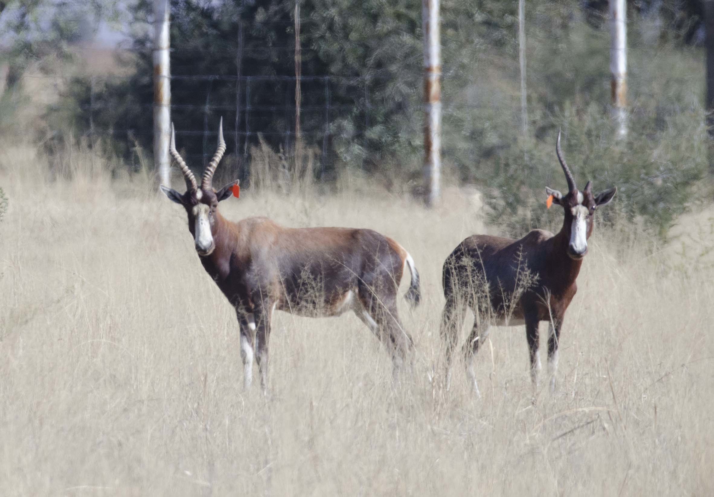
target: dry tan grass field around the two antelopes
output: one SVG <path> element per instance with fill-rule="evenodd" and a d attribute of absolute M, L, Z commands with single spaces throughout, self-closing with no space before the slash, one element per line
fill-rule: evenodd
<path fill-rule="evenodd" d="M 441 263 L 484 230 L 468 199 L 448 191 L 425 211 L 376 191 L 245 190 L 222 204 L 229 219 L 368 226 L 423 281 L 421 307 L 401 308 L 413 378 L 393 386 L 354 316 L 276 313 L 266 401 L 242 391 L 236 319 L 181 209 L 78 157 L 50 184 L 42 156 L 0 148 L 0 495 L 714 493 L 710 266 L 596 231 L 558 392 L 531 403 L 524 330 L 498 328 L 476 401 L 461 366 L 448 394 L 427 377 L 441 373 Z"/>

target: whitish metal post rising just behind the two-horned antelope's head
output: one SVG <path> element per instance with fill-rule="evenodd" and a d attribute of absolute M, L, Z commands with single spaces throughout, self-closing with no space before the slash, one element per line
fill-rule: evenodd
<path fill-rule="evenodd" d="M 169 0 L 154 0 L 154 165 L 160 184 L 171 186 L 171 72 L 169 71 Z"/>

